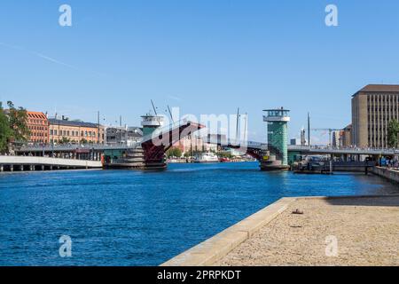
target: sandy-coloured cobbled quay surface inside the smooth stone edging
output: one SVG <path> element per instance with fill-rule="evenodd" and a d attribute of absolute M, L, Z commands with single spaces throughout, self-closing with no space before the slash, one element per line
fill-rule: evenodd
<path fill-rule="evenodd" d="M 298 199 L 215 265 L 399 266 L 399 196 Z"/>

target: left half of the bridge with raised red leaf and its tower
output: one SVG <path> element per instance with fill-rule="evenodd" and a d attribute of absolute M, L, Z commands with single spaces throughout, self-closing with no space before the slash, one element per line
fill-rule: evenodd
<path fill-rule="evenodd" d="M 52 170 L 48 161 L 40 162 L 41 158 L 54 161 L 63 159 L 69 161 L 65 169 L 81 169 L 81 161 L 101 162 L 105 169 L 137 169 L 163 170 L 166 169 L 165 154 L 168 149 L 180 139 L 192 135 L 204 128 L 203 125 L 179 121 L 164 126 L 162 116 L 147 114 L 143 116 L 143 138 L 131 146 L 126 145 L 62 145 L 62 146 L 26 146 L 15 150 L 24 157 L 36 157 L 40 169 Z M 1 163 L 1 161 L 0 161 Z M 85 166 L 86 169 L 98 168 Z M 27 168 L 27 165 L 22 167 Z M 43 168 L 43 167 L 45 168 Z M 23 169 L 23 168 L 22 168 Z M 34 167 L 34 169 L 36 169 Z M 56 168 L 56 169 L 59 169 Z"/>

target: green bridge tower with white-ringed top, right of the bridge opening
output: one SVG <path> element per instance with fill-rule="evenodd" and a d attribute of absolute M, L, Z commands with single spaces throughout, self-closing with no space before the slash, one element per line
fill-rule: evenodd
<path fill-rule="evenodd" d="M 289 110 L 266 109 L 267 115 L 263 121 L 268 123 L 268 149 L 269 156 L 264 156 L 261 161 L 262 170 L 288 170 L 288 122 Z"/>

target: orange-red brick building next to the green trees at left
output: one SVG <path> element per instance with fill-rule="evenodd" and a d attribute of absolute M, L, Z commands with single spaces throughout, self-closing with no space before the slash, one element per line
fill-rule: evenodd
<path fill-rule="evenodd" d="M 49 143 L 49 121 L 46 114 L 27 111 L 27 128 L 30 131 L 30 136 L 27 139 L 29 142 Z"/>

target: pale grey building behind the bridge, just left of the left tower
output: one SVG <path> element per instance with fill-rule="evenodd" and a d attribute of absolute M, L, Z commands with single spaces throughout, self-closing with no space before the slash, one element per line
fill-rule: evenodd
<path fill-rule="evenodd" d="M 143 130 L 138 127 L 107 127 L 106 144 L 133 146 L 143 138 Z"/>

